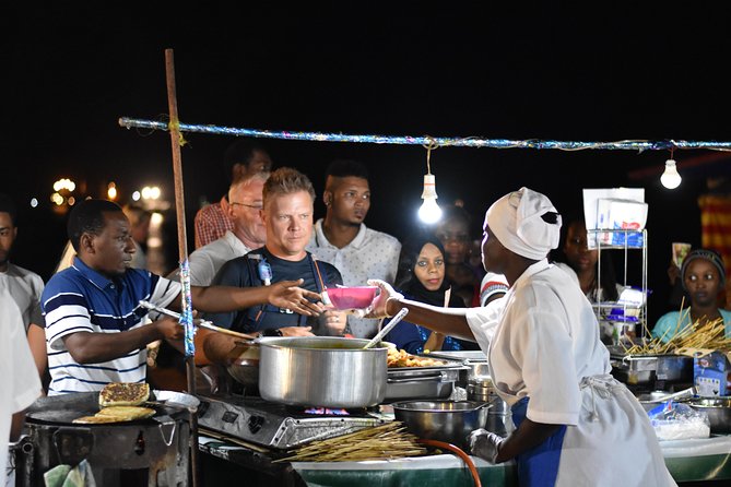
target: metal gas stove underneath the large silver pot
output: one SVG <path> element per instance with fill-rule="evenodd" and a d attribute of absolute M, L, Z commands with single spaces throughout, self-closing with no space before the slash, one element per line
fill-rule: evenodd
<path fill-rule="evenodd" d="M 390 420 L 377 409 L 326 409 L 311 414 L 257 396 L 222 394 L 198 399 L 199 427 L 276 450 L 290 450 Z"/>

